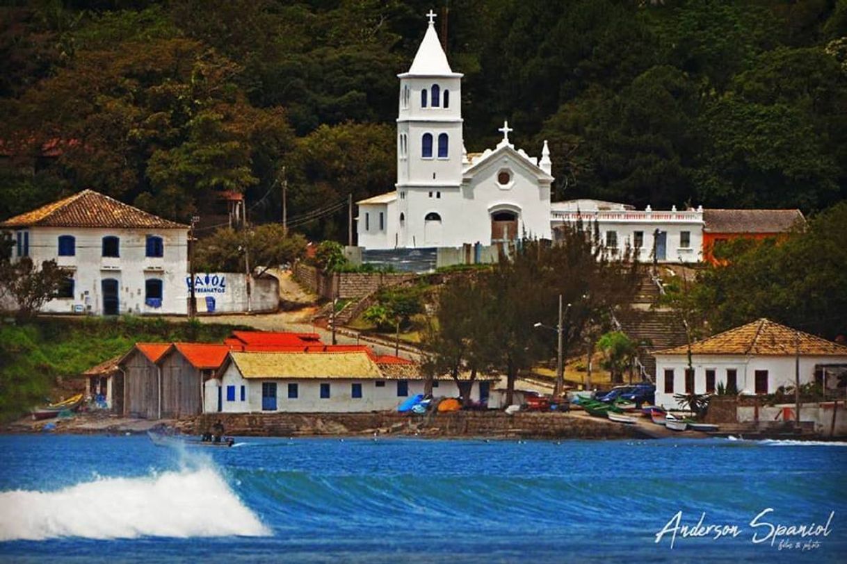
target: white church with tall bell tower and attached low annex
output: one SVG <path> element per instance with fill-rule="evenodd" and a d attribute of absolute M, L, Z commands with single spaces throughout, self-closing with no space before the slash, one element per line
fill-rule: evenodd
<path fill-rule="evenodd" d="M 573 200 L 551 204 L 552 162 L 509 140 L 468 154 L 462 136 L 462 74 L 454 73 L 435 32 L 435 14 L 412 66 L 400 79 L 395 190 L 357 202 L 358 246 L 365 249 L 498 244 L 551 239 L 567 222 L 597 222 L 606 246 L 638 246 L 659 260 L 701 258 L 703 211 L 635 211 L 630 205 Z M 644 258 L 644 257 L 642 257 Z"/>

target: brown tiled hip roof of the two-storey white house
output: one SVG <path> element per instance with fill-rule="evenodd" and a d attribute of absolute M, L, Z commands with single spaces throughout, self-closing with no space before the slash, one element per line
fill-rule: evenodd
<path fill-rule="evenodd" d="M 0 223 L 0 227 L 36 226 L 188 229 L 187 225 L 154 216 L 87 189 Z"/>

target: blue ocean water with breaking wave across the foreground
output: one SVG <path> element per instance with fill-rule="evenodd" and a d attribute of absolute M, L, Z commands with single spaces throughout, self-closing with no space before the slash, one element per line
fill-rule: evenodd
<path fill-rule="evenodd" d="M 847 561 L 844 443 L 0 435 L 0 452 L 0 561 Z M 673 538 L 678 512 L 737 534 Z"/>

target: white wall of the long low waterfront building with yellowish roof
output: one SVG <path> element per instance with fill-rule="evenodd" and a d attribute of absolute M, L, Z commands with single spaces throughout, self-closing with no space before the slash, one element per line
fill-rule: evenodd
<path fill-rule="evenodd" d="M 212 379 L 206 382 L 206 410 L 209 413 L 218 409 L 218 386 L 222 386 L 222 411 L 224 413 L 261 413 L 262 384 L 276 383 L 276 411 L 291 413 L 352 413 L 383 411 L 394 409 L 401 402 L 419 393 L 424 393 L 424 381 L 408 381 L 408 395 L 397 395 L 397 381 L 383 380 L 385 386 L 377 386 L 373 379 L 244 379 L 235 367 L 230 364 L 220 381 Z M 352 384 L 362 384 L 362 397 L 352 397 Z M 297 398 L 288 397 L 288 384 L 297 384 Z M 329 383 L 329 398 L 320 397 L 320 385 Z M 235 401 L 226 399 L 227 386 L 235 386 Z M 241 386 L 246 386 L 246 401 L 241 402 Z M 435 397 L 458 397 L 456 383 L 451 380 L 440 381 L 433 388 Z M 474 382 L 471 399 L 479 401 L 479 382 Z M 267 413 L 267 412 L 266 412 Z"/>

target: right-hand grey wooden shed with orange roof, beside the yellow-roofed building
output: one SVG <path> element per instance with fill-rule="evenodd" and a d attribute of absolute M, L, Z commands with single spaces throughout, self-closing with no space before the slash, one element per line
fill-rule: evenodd
<path fill-rule="evenodd" d="M 162 374 L 162 417 L 203 412 L 203 382 L 223 364 L 230 347 L 223 344 L 174 342 L 158 359 Z"/>

